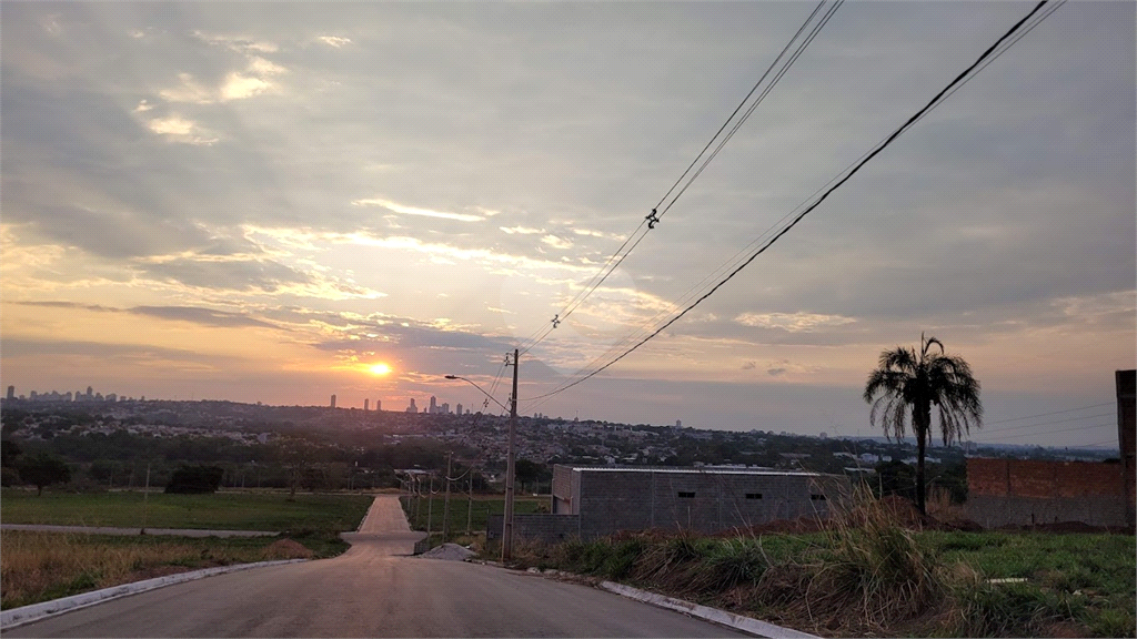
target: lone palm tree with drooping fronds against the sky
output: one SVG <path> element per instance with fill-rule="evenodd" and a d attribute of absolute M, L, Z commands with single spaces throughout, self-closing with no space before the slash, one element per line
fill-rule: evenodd
<path fill-rule="evenodd" d="M 932 345 L 939 352 L 931 351 Z M 878 397 L 879 396 L 879 397 Z M 880 354 L 879 367 L 869 374 L 864 400 L 872 404 L 869 421 L 885 429 L 885 437 L 905 435 L 907 415 L 916 435 L 916 507 L 924 509 L 924 450 L 931 440 L 931 407 L 939 409 L 939 430 L 944 445 L 958 441 L 972 426 L 982 428 L 984 406 L 979 382 L 961 357 L 944 354 L 936 338 L 920 333 L 920 351 L 896 347 Z"/>

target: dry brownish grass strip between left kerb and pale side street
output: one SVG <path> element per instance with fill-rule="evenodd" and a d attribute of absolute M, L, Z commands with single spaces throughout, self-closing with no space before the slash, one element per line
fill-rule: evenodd
<path fill-rule="evenodd" d="M 28 531 L 0 533 L 0 608 L 77 595 L 121 583 L 274 559 L 321 558 L 348 548 L 332 533 L 189 538 Z"/>

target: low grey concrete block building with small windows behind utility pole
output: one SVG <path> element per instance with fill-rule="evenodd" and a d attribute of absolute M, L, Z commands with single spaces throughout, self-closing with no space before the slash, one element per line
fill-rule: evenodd
<path fill-rule="evenodd" d="M 621 530 L 713 533 L 803 515 L 827 517 L 849 493 L 841 475 L 740 467 L 553 467 L 550 514 L 515 515 L 517 538 L 592 539 Z M 488 523 L 491 539 L 500 516 Z"/>

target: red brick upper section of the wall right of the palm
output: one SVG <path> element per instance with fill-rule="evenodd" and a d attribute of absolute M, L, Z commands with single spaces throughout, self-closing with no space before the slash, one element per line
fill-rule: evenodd
<path fill-rule="evenodd" d="M 1124 498 L 1121 464 L 968 459 L 968 491 L 986 497 L 1120 497 Z"/>

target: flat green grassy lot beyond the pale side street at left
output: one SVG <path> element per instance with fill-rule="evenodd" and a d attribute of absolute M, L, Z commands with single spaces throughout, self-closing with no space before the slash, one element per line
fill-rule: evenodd
<path fill-rule="evenodd" d="M 69 493 L 3 490 L 0 521 L 6 524 L 56 524 L 141 528 L 142 492 Z M 373 500 L 368 495 L 306 495 L 289 501 L 284 493 L 218 492 L 147 498 L 147 528 L 215 530 L 355 530 Z M 465 523 L 463 523 L 465 525 Z"/>

